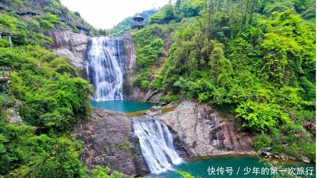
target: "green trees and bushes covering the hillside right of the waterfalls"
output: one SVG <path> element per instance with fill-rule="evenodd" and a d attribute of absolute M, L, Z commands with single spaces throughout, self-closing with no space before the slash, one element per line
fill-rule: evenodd
<path fill-rule="evenodd" d="M 256 151 L 315 162 L 315 1 L 177 0 L 149 21 L 170 23 L 132 34 L 135 86 L 209 103 L 255 134 Z"/>

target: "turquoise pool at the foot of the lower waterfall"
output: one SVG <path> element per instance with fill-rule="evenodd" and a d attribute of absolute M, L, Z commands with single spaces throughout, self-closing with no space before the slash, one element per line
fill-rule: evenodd
<path fill-rule="evenodd" d="M 229 175 L 227 168 L 232 167 L 232 175 Z M 185 160 L 184 163 L 174 166 L 174 170 L 189 172 L 195 178 L 272 178 L 272 175 L 261 175 L 264 164 L 260 162 L 260 158 L 251 155 L 227 155 L 227 156 L 213 156 L 209 158 L 197 158 Z M 300 161 L 290 161 L 285 163 L 285 167 L 293 167 L 297 173 L 297 167 L 303 167 L 306 173 L 306 168 L 312 168 L 315 175 L 315 164 L 306 164 Z M 209 169 L 210 168 L 210 169 Z M 214 168 L 215 172 L 212 172 Z M 223 175 L 220 174 L 223 168 Z M 260 174 L 255 174 L 254 168 L 259 168 Z M 218 169 L 218 171 L 217 171 Z M 251 169 L 251 170 L 249 170 Z M 208 171 L 210 170 L 210 171 Z M 238 172 L 239 170 L 239 172 Z M 248 173 L 249 171 L 249 173 Z M 266 170 L 267 171 L 267 170 Z M 215 175 L 213 175 L 214 173 Z M 237 174 L 238 173 L 238 174 Z M 248 174 L 247 174 L 248 173 Z M 271 171 L 268 171 L 271 174 Z M 210 175 L 211 174 L 211 175 Z M 152 178 L 180 178 L 175 171 L 167 171 L 159 175 L 150 174 L 148 177 Z M 304 177 L 304 176 L 302 176 Z M 306 177 L 305 177 L 306 178 Z M 315 176 L 308 176 L 307 178 L 315 178 Z"/>

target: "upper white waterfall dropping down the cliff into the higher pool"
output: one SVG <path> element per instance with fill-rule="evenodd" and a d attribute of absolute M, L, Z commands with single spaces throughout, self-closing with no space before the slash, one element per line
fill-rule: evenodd
<path fill-rule="evenodd" d="M 88 48 L 87 76 L 98 101 L 123 99 L 125 56 L 120 38 L 93 37 Z"/>

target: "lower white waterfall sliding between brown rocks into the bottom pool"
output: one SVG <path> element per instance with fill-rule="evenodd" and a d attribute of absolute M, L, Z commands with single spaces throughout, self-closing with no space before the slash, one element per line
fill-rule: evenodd
<path fill-rule="evenodd" d="M 139 137 L 141 151 L 151 173 L 159 174 L 180 164 L 182 159 L 173 146 L 167 126 L 154 119 L 133 121 L 134 134 Z"/>

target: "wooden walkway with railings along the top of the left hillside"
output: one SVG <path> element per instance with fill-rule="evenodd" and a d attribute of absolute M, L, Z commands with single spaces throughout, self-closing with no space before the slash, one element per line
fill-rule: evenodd
<path fill-rule="evenodd" d="M 32 8 L 20 8 L 20 7 L 9 5 L 9 4 L 3 3 L 3 2 L 0 2 L 0 9 L 1 8 L 2 9 L 7 9 L 7 10 L 10 10 L 10 11 L 14 11 L 14 12 L 18 13 L 19 15 L 24 15 L 24 14 L 30 14 L 31 16 L 32 15 L 45 15 L 44 12 L 36 11 L 36 10 L 34 10 Z M 67 24 L 69 23 L 69 21 L 66 20 L 64 17 L 60 17 L 60 16 L 57 16 L 57 17 L 60 18 L 61 22 L 65 22 Z M 89 32 L 91 30 L 91 27 L 85 27 L 84 25 L 76 23 L 76 22 L 73 22 L 73 23 L 75 24 L 75 26 L 78 29 L 85 30 L 87 32 Z"/>

